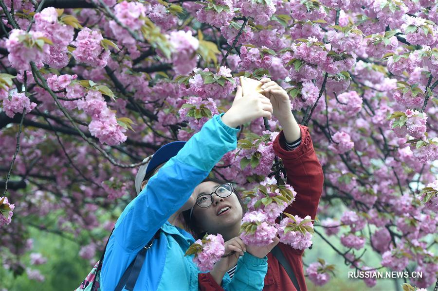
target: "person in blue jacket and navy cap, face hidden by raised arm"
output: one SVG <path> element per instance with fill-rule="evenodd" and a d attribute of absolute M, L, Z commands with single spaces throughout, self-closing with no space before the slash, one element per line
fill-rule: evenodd
<path fill-rule="evenodd" d="M 266 117 L 272 104 L 261 94 L 242 97 L 237 87 L 235 100 L 224 114 L 208 120 L 187 142 L 164 145 L 140 167 L 135 179 L 138 196 L 120 215 L 101 259 L 100 290 L 198 290 L 201 271 L 192 257 L 184 256 L 193 237 L 179 228 L 181 213 L 190 210 L 198 198 L 194 189 L 224 154 L 236 149 L 239 125 Z M 214 190 L 230 191 L 229 185 Z M 210 192 L 209 192 L 210 193 Z M 227 242 L 226 251 L 237 251 L 237 242 Z M 271 246 L 271 248 L 274 244 Z M 233 257 L 220 260 L 209 278 L 227 290 L 260 290 L 267 271 L 270 249 L 254 249 L 239 260 L 240 271 L 230 279 L 224 274 L 235 265 Z M 243 255 L 243 252 L 241 253 Z M 99 266 L 96 268 L 100 270 Z M 90 281 L 83 286 L 90 286 Z M 205 282 L 211 286 L 210 282 Z M 93 283 L 93 286 L 95 283 Z M 89 290 L 89 289 L 87 289 Z M 92 288 L 92 291 L 97 290 Z"/>

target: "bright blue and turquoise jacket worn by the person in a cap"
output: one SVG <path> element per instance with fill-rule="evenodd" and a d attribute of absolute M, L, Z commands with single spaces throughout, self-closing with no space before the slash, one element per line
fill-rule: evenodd
<path fill-rule="evenodd" d="M 225 125 L 221 115 L 207 121 L 126 206 L 105 252 L 100 274 L 102 291 L 114 290 L 129 264 L 159 228 L 160 238 L 146 253 L 134 291 L 198 290 L 201 271 L 193 263 L 193 256 L 184 256 L 194 239 L 167 219 L 184 205 L 222 156 L 237 147 L 238 129 Z M 267 268 L 266 257 L 245 253 L 238 260 L 233 279 L 226 274 L 222 287 L 262 290 Z"/>

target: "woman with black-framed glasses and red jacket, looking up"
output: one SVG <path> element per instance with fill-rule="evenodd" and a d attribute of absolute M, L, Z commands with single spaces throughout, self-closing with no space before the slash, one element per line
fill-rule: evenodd
<path fill-rule="evenodd" d="M 287 184 L 297 192 L 295 201 L 285 212 L 304 218 L 310 215 L 315 218 L 319 199 L 322 194 L 324 175 L 321 164 L 316 157 L 310 138 L 309 129 L 298 125 L 292 112 L 289 96 L 286 91 L 269 78 L 260 80 L 262 88 L 268 93 L 282 131 L 274 140 L 274 152 L 282 158 L 287 173 Z M 251 251 L 251 246 L 244 246 L 238 238 L 244 207 L 238 193 L 230 183 L 216 179 L 205 179 L 195 188 L 196 204 L 192 209 L 183 212 L 186 227 L 195 239 L 201 238 L 205 232 L 221 234 L 224 240 L 235 241 Z M 268 254 L 268 272 L 264 280 L 264 289 L 307 290 L 302 250 L 278 243 Z M 237 255 L 238 256 L 238 255 Z M 239 271 L 237 265 L 230 268 L 228 274 L 233 277 Z M 215 284 L 209 274 L 200 277 L 201 290 L 222 290 Z M 208 286 L 208 288 L 202 288 Z"/>

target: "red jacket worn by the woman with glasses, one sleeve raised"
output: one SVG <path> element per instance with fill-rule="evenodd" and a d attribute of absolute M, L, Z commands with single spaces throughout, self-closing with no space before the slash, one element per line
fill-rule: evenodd
<path fill-rule="evenodd" d="M 315 219 L 319 199 L 322 194 L 324 174 L 321 164 L 316 157 L 309 128 L 299 125 L 301 129 L 301 144 L 292 151 L 285 150 L 283 131 L 274 140 L 274 152 L 283 160 L 287 173 L 287 183 L 296 191 L 295 201 L 286 208 L 285 212 L 304 218 L 310 215 Z M 289 261 L 301 291 L 306 291 L 302 255 L 304 251 L 293 249 L 290 245 L 279 243 Z M 213 279 L 210 273 L 199 274 L 199 289 L 201 291 L 223 290 Z M 265 276 L 266 291 L 290 290 L 296 291 L 286 271 L 277 259 L 268 254 L 268 273 Z"/>

